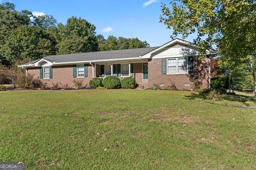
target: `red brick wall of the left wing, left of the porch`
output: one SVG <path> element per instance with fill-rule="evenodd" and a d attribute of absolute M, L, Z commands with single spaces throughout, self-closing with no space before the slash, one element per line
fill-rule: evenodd
<path fill-rule="evenodd" d="M 40 68 L 28 68 L 28 74 L 34 75 L 34 78 L 40 77 Z M 68 85 L 70 88 L 75 88 L 73 80 L 83 80 L 83 86 L 89 85 L 89 81 L 92 80 L 92 66 L 88 64 L 88 77 L 85 78 L 73 78 L 72 65 L 53 66 L 52 78 L 44 79 L 43 82 L 46 82 L 48 87 L 58 82 L 61 83 L 60 87 Z"/>

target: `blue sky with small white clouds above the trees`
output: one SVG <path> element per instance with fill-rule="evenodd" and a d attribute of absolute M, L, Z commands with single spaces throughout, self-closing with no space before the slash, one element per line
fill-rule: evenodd
<path fill-rule="evenodd" d="M 0 0 L 12 2 L 16 10 L 29 10 L 34 15 L 49 14 L 66 24 L 72 16 L 81 17 L 96 26 L 96 34 L 135 38 L 147 41 L 150 47 L 169 41 L 172 30 L 160 23 L 161 2 L 170 0 Z M 186 41 L 193 41 L 190 35 Z M 179 36 L 178 38 L 181 38 Z"/>

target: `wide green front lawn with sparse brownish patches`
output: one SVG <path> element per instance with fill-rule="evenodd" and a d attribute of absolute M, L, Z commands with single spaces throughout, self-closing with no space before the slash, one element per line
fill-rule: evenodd
<path fill-rule="evenodd" d="M 256 110 L 162 90 L 0 92 L 0 161 L 27 169 L 255 169 Z"/>

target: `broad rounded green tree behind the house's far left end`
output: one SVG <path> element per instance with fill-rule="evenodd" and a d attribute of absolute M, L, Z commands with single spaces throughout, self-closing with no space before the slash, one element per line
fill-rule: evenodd
<path fill-rule="evenodd" d="M 6 60 L 39 59 L 55 54 L 55 42 L 46 30 L 32 25 L 23 25 L 12 31 L 0 49 Z"/>

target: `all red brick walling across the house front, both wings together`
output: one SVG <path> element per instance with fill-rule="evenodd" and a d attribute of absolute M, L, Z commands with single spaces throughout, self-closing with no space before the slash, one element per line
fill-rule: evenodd
<path fill-rule="evenodd" d="M 148 83 L 142 82 L 143 71 L 142 63 L 134 63 L 134 78 L 140 86 L 144 88 L 153 87 L 153 84 L 164 84 L 165 87 L 174 84 L 180 90 L 192 89 L 193 79 L 192 76 L 197 76 L 198 81 L 201 82 L 200 88 L 209 88 L 209 59 L 205 58 L 198 61 L 194 57 L 194 73 L 193 74 L 162 74 L 162 59 L 152 59 L 148 62 Z M 28 68 L 28 73 L 34 75 L 34 78 L 40 77 L 40 68 Z M 100 65 L 96 64 L 96 77 L 100 75 Z M 92 80 L 92 66 L 88 64 L 88 77 L 73 78 L 73 66 L 53 66 L 52 79 L 43 80 L 52 87 L 52 84 L 61 83 L 62 86 L 66 84 L 70 88 L 75 88 L 73 80 L 83 80 L 84 86 L 89 84 Z M 190 84 L 190 86 L 184 86 Z M 164 87 L 163 87 L 164 88 Z"/>

